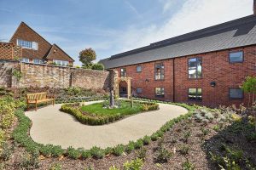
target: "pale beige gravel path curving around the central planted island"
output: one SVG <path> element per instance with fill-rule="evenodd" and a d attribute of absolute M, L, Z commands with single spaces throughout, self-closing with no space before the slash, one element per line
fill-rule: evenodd
<path fill-rule="evenodd" d="M 86 102 L 90 105 L 99 101 Z M 151 135 L 167 121 L 188 111 L 177 105 L 159 104 L 160 110 L 129 116 L 119 122 L 102 126 L 87 126 L 73 116 L 59 111 L 61 105 L 49 105 L 38 111 L 26 111 L 32 120 L 30 135 L 40 144 L 73 146 L 90 149 L 92 146 L 106 148 L 116 144 L 128 144 L 145 135 Z"/>

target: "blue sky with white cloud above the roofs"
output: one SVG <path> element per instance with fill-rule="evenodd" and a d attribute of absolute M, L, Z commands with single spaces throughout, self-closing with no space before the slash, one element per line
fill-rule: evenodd
<path fill-rule="evenodd" d="M 96 61 L 253 14 L 253 0 L 0 0 L 0 41 L 24 21 L 79 62 Z"/>

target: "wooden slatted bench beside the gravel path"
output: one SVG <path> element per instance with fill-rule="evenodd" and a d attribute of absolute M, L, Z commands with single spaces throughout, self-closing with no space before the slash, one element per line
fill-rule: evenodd
<path fill-rule="evenodd" d="M 29 104 L 36 105 L 36 111 L 38 110 L 38 104 L 52 102 L 52 105 L 55 105 L 55 97 L 49 98 L 47 93 L 38 93 L 38 94 L 26 94 L 27 110 L 29 109 Z"/>

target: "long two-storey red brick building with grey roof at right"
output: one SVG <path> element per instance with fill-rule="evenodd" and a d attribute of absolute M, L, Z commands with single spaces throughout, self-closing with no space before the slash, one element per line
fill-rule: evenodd
<path fill-rule="evenodd" d="M 119 77 L 131 77 L 135 96 L 210 106 L 247 103 L 240 85 L 245 77 L 256 76 L 254 11 L 100 62 L 119 71 Z M 125 82 L 120 82 L 119 94 L 126 92 Z"/>

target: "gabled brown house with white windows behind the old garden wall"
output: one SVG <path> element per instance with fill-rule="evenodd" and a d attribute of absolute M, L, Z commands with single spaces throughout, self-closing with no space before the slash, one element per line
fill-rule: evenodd
<path fill-rule="evenodd" d="M 74 60 L 56 44 L 50 44 L 26 23 L 21 22 L 10 41 L 22 48 L 22 62 L 73 65 Z"/>

